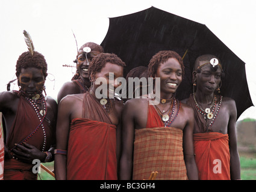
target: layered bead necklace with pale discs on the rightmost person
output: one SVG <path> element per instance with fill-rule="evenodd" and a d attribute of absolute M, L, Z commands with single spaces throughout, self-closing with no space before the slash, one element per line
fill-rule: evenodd
<path fill-rule="evenodd" d="M 216 104 L 217 104 L 216 95 L 214 95 L 214 97 L 213 97 L 213 101 L 211 102 L 211 106 L 209 108 L 206 108 L 205 110 L 203 110 L 199 106 L 198 102 L 196 101 L 195 92 L 193 93 L 193 100 L 194 100 L 194 103 L 196 105 L 196 108 L 198 109 L 198 112 L 201 113 L 204 116 L 204 119 L 205 119 L 205 121 L 207 123 L 207 131 L 208 131 L 208 128 L 213 125 L 213 123 L 216 120 L 217 114 L 219 113 L 220 105 L 222 103 L 222 95 L 220 95 L 219 106 L 217 107 L 215 115 L 213 115 L 213 113 L 214 113 L 214 110 L 216 109 Z M 211 107 L 213 107 L 213 110 L 211 110 Z M 212 119 L 210 124 L 208 124 L 208 119 Z"/>

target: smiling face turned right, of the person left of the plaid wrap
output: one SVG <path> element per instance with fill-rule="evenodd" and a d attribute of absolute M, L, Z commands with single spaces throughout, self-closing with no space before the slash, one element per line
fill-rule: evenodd
<path fill-rule="evenodd" d="M 114 74 L 114 76 L 111 77 L 111 74 Z M 92 80 L 93 80 L 92 90 L 94 92 L 99 86 L 101 86 L 101 85 L 96 85 L 95 83 L 95 80 L 99 77 L 103 77 L 106 80 L 105 87 L 107 87 L 107 92 L 103 92 L 102 94 L 109 98 L 110 95 L 114 95 L 114 90 L 117 88 L 117 86 L 119 86 L 119 84 L 115 82 L 118 77 L 123 77 L 123 67 L 120 65 L 107 62 L 105 64 L 105 67 L 103 67 L 101 71 L 96 72 L 95 74 L 92 74 Z"/>

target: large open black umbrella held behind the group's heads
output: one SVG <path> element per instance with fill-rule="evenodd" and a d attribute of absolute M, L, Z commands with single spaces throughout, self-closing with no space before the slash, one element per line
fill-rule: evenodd
<path fill-rule="evenodd" d="M 105 52 L 115 53 L 126 63 L 125 75 L 134 67 L 147 66 L 152 56 L 160 50 L 179 53 L 185 65 L 184 80 L 176 92 L 179 100 L 192 93 L 192 71 L 196 58 L 203 54 L 216 55 L 225 72 L 221 94 L 236 101 L 237 118 L 253 106 L 246 81 L 245 62 L 201 23 L 151 7 L 110 18 L 110 26 L 101 46 Z"/>

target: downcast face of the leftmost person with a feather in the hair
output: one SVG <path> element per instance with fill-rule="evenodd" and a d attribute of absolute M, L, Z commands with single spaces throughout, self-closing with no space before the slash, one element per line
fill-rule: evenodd
<path fill-rule="evenodd" d="M 19 74 L 19 85 L 28 97 L 34 97 L 45 84 L 42 69 L 35 67 L 22 68 Z"/>

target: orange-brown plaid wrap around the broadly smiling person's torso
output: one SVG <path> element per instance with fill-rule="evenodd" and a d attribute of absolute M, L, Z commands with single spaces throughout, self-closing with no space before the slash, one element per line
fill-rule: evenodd
<path fill-rule="evenodd" d="M 183 157 L 183 131 L 178 128 L 142 128 L 135 130 L 133 179 L 186 180 Z"/>

